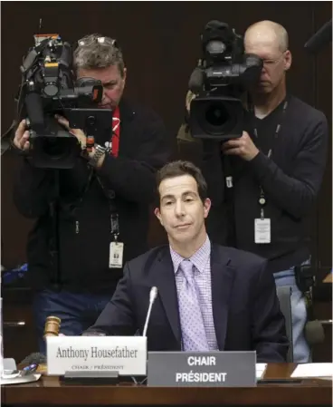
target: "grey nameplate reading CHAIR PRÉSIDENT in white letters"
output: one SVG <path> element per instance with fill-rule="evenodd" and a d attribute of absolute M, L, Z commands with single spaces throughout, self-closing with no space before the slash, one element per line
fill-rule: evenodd
<path fill-rule="evenodd" d="M 149 352 L 148 386 L 252 387 L 255 352 Z"/>

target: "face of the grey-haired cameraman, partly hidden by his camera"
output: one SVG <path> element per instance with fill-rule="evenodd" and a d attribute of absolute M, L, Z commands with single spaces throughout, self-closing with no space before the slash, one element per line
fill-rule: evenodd
<path fill-rule="evenodd" d="M 92 78 L 102 83 L 103 98 L 99 104 L 101 109 L 115 109 L 118 106 L 125 87 L 126 68 L 124 77 L 121 77 L 118 65 L 99 69 L 81 69 L 78 77 Z"/>

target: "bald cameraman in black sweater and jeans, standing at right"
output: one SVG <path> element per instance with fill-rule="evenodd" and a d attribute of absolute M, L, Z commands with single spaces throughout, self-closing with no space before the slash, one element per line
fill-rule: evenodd
<path fill-rule="evenodd" d="M 246 113 L 242 137 L 222 143 L 222 160 L 216 153 L 205 154 L 204 173 L 214 203 L 211 221 L 221 221 L 225 207 L 231 206 L 233 245 L 268 258 L 276 285 L 291 286 L 294 361 L 307 363 L 307 308 L 295 269 L 310 261 L 305 220 L 325 170 L 328 123 L 322 112 L 287 92 L 291 53 L 280 24 L 252 24 L 244 46 L 245 53 L 262 58 L 263 68 L 260 82 L 250 92 L 253 108 Z M 233 169 L 232 202 L 225 201 L 227 158 Z M 217 161 L 220 170 L 213 171 Z M 223 238 L 216 229 L 211 233 L 214 240 Z"/>

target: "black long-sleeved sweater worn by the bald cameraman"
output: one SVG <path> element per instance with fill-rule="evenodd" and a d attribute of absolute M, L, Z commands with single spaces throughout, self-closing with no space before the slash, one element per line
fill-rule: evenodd
<path fill-rule="evenodd" d="M 264 119 L 248 116 L 244 130 L 261 152 L 251 161 L 232 158 L 233 216 L 229 213 L 227 221 L 233 229 L 233 246 L 268 258 L 272 272 L 300 265 L 309 257 L 306 218 L 318 195 L 327 160 L 328 123 L 324 114 L 293 96 L 288 101 L 284 115 L 284 102 L 281 102 Z M 281 130 L 274 140 L 279 123 Z M 257 138 L 254 127 L 257 127 Z M 271 158 L 268 158 L 270 149 Z M 203 170 L 214 202 L 208 233 L 221 243 L 223 233 L 214 225 L 222 224 L 226 202 L 225 189 L 222 194 L 216 188 L 224 184 L 223 160 L 217 170 L 217 159 L 221 160 L 217 154 L 207 155 Z M 260 218 L 262 208 L 260 186 L 266 199 L 264 216 L 271 219 L 269 244 L 254 241 L 254 219 Z"/>

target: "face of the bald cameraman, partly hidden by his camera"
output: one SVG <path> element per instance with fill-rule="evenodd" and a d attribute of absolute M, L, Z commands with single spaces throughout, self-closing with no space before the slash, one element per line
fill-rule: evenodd
<path fill-rule="evenodd" d="M 245 42 L 245 53 L 255 53 L 263 60 L 260 82 L 255 91 L 271 93 L 284 80 L 290 68 L 290 51 L 282 52 L 277 41 L 259 37 Z"/>

